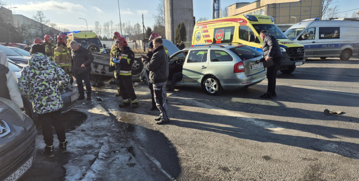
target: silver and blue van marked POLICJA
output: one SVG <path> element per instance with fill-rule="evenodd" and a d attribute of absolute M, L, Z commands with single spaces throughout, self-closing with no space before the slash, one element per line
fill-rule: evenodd
<path fill-rule="evenodd" d="M 359 55 L 359 20 L 306 19 L 294 24 L 284 34 L 304 45 L 306 57 L 349 60 L 351 56 Z"/>

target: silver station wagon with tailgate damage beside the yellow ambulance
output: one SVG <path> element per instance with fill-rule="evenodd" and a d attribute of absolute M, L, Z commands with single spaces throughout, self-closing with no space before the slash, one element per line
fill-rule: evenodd
<path fill-rule="evenodd" d="M 266 69 L 256 60 L 262 54 L 246 45 L 208 45 L 183 49 L 169 59 L 168 84 L 174 73 L 182 72 L 176 86 L 203 88 L 210 95 L 260 83 Z"/>

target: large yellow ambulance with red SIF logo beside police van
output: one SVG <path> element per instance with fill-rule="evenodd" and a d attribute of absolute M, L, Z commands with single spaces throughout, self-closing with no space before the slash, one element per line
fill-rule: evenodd
<path fill-rule="evenodd" d="M 283 53 L 279 68 L 282 73 L 290 74 L 296 66 L 304 64 L 304 46 L 289 40 L 274 24 L 274 19 L 266 15 L 235 15 L 196 23 L 192 46 L 240 43 L 263 54 L 263 41 L 259 36 L 263 30 L 272 34 L 279 42 Z"/>

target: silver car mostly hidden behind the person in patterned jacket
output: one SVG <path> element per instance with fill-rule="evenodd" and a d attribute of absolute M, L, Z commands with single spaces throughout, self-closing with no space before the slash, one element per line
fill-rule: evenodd
<path fill-rule="evenodd" d="M 15 64 L 13 61 L 9 59 L 8 61 L 9 61 L 9 69 L 14 71 L 19 79 L 23 66 L 19 64 Z M 60 91 L 61 91 L 62 102 L 64 103 L 64 107 L 61 108 L 61 112 L 65 113 L 67 111 L 70 111 L 72 108 L 74 108 L 77 105 L 78 90 L 75 87 L 71 87 L 71 89 L 66 88 Z M 26 114 L 30 116 L 33 120 L 37 120 L 38 116 L 37 113 L 35 113 L 32 109 L 32 102 L 23 95 L 21 97 L 23 99 Z"/>

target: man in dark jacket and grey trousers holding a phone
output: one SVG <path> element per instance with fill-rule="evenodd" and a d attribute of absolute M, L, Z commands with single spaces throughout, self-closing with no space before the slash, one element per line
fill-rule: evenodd
<path fill-rule="evenodd" d="M 146 70 L 150 71 L 150 83 L 153 84 L 154 98 L 157 108 L 160 110 L 160 116 L 155 120 L 156 124 L 162 125 L 169 123 L 169 112 L 167 108 L 166 84 L 168 78 L 168 56 L 162 45 L 162 38 L 157 37 L 153 40 L 153 56 L 151 60 L 147 60 L 148 56 L 142 58 L 143 65 Z"/>

